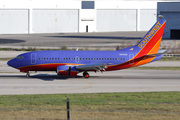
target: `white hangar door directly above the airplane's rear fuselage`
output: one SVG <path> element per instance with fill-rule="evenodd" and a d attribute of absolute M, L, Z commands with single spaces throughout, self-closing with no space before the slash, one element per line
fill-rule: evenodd
<path fill-rule="evenodd" d="M 97 32 L 136 31 L 137 10 L 135 9 L 98 9 Z"/>

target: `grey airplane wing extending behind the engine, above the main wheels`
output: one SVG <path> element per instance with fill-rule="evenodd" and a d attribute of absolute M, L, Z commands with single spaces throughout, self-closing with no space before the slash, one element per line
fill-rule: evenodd
<path fill-rule="evenodd" d="M 79 65 L 76 66 L 76 69 L 79 71 L 88 71 L 88 70 L 105 70 L 107 68 L 107 64 L 104 63 L 96 63 L 96 64 L 88 64 L 88 65 Z"/>

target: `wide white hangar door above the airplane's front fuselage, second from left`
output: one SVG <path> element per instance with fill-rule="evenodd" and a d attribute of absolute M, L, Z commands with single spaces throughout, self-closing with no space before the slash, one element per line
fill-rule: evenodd
<path fill-rule="evenodd" d="M 78 32 L 79 10 L 33 10 L 34 33 Z"/>

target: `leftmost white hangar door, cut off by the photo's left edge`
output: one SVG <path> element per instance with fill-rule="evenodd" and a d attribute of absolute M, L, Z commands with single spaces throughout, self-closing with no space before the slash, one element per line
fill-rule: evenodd
<path fill-rule="evenodd" d="M 0 34 L 28 33 L 28 21 L 28 9 L 0 9 Z"/>

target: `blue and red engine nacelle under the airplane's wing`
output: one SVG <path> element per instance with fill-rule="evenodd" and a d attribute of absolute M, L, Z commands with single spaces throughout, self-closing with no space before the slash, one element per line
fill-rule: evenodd
<path fill-rule="evenodd" d="M 58 75 L 77 76 L 77 73 L 78 71 L 76 67 L 65 66 L 65 65 L 57 67 Z"/>

